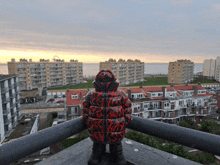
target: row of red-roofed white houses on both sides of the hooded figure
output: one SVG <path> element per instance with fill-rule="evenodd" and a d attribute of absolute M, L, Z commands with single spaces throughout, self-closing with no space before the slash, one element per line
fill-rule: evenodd
<path fill-rule="evenodd" d="M 179 123 L 186 117 L 195 121 L 216 113 L 220 100 L 198 85 L 163 87 L 120 87 L 132 103 L 132 115 L 166 123 Z M 83 100 L 88 90 L 66 92 L 68 120 L 82 115 Z"/>

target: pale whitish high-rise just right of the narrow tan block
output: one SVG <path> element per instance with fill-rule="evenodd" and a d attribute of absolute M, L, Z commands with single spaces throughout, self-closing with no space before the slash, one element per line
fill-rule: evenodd
<path fill-rule="evenodd" d="M 205 59 L 203 62 L 203 76 L 215 77 L 215 62 L 214 59 Z"/>

